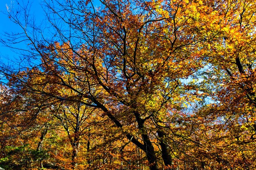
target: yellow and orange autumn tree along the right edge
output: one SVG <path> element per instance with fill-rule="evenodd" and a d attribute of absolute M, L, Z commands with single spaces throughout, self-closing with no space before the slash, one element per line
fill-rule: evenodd
<path fill-rule="evenodd" d="M 223 38 L 207 44 L 206 49 L 212 48 L 212 51 L 205 50 L 204 54 L 210 63 L 208 73 L 204 72 L 204 81 L 216 103 L 211 112 L 218 114 L 219 132 L 223 136 L 219 144 L 216 142 L 216 149 L 219 153 L 227 150 L 218 161 L 227 167 L 254 169 L 254 163 L 251 164 L 255 144 L 255 15 L 252 9 L 256 6 L 253 1 L 228 1 L 219 7 L 222 8 L 219 15 L 223 18 L 220 30 Z"/>

